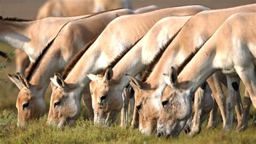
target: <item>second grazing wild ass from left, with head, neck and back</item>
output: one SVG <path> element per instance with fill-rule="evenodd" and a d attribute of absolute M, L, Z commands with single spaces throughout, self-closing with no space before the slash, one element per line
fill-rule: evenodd
<path fill-rule="evenodd" d="M 80 58 L 65 81 L 58 75 L 51 78 L 52 81 L 57 81 L 54 84 L 57 84 L 58 88 L 52 92 L 48 122 L 57 124 L 58 127 L 64 126 L 65 121 L 69 123 L 69 119 L 80 112 L 79 101 L 83 92 L 87 92 L 88 95 L 87 98 L 84 97 L 84 102 L 91 104 L 90 79 L 85 76 L 85 73 L 99 73 L 116 64 L 159 19 L 170 15 L 183 16 L 188 13 L 197 13 L 204 9 L 206 7 L 200 5 L 180 6 L 113 20 Z M 76 105 L 71 101 L 76 101 Z M 122 101 L 122 98 L 117 100 L 119 101 Z M 72 113 L 66 113 L 67 109 Z"/>

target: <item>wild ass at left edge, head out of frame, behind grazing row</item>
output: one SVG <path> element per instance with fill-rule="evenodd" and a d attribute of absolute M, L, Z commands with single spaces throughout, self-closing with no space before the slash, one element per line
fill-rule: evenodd
<path fill-rule="evenodd" d="M 0 41 L 24 51 L 33 63 L 65 23 L 73 19 L 86 17 L 49 17 L 38 20 L 0 17 Z M 23 52 L 16 51 L 17 72 L 24 73 L 28 66 L 28 56 Z"/>

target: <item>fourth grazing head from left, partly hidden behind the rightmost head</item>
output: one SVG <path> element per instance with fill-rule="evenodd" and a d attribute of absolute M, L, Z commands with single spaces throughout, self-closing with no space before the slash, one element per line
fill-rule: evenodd
<path fill-rule="evenodd" d="M 142 81 L 127 75 L 134 90 L 135 104 L 139 112 L 139 131 L 150 135 L 157 127 L 160 113 L 160 97 L 157 91 L 146 86 Z"/>

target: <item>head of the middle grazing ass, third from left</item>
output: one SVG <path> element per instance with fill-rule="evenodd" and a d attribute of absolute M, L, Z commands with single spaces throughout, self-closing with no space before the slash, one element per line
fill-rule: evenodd
<path fill-rule="evenodd" d="M 118 83 L 112 79 L 112 68 L 108 68 L 104 76 L 90 73 L 87 73 L 87 76 L 92 80 L 90 90 L 95 113 L 94 122 L 110 125 L 116 120 L 123 106 L 122 91 L 115 89 Z"/>

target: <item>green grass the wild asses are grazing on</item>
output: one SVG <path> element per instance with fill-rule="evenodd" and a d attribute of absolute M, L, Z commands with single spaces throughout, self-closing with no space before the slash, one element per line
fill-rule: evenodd
<path fill-rule="evenodd" d="M 0 44 L 5 52 L 14 51 L 10 46 Z M 0 63 L 4 61 L 0 58 Z M 0 143 L 256 143 L 256 111 L 251 109 L 250 126 L 242 133 L 223 132 L 221 122 L 218 127 L 206 131 L 207 121 L 203 131 L 194 138 L 187 138 L 181 133 L 178 139 L 158 139 L 156 134 L 145 136 L 138 129 L 125 129 L 113 125 L 102 127 L 93 125 L 81 116 L 73 127 L 59 130 L 47 126 L 46 115 L 38 122 L 33 122 L 27 128 L 19 128 L 17 124 L 17 110 L 15 108 L 18 88 L 8 79 L 8 73 L 15 73 L 14 59 L 7 68 L 0 71 Z M 244 91 L 243 88 L 241 91 Z M 45 101 L 49 108 L 51 90 L 46 92 Z M 242 94 L 243 95 L 243 94 Z M 86 118 L 86 109 L 82 115 Z M 220 120 L 219 120 L 220 121 Z"/>

